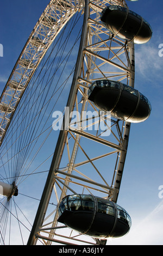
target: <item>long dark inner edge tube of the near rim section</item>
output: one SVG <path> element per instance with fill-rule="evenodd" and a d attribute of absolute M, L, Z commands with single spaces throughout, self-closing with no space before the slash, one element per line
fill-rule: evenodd
<path fill-rule="evenodd" d="M 76 63 L 76 70 L 74 71 L 72 86 L 71 86 L 70 94 L 69 94 L 68 101 L 67 101 L 67 107 L 70 109 L 70 111 L 72 111 L 72 109 L 74 107 L 75 95 L 77 93 L 77 77 L 79 76 L 79 72 L 80 72 L 80 66 L 82 63 L 82 50 L 83 50 L 85 40 L 86 40 L 86 33 L 85 33 L 86 27 L 87 27 L 86 21 L 88 19 L 88 15 L 89 15 L 88 6 L 89 5 L 87 4 L 87 0 L 85 0 L 82 38 L 80 41 L 80 47 L 79 47 L 78 58 L 77 58 L 77 63 Z M 65 120 L 65 117 L 64 117 L 64 120 Z M 39 230 L 39 227 L 43 222 L 45 208 L 47 208 L 47 206 L 48 206 L 49 198 L 51 196 L 52 188 L 54 186 L 54 171 L 59 168 L 62 150 L 64 149 L 64 145 L 66 143 L 66 138 L 67 138 L 67 131 L 61 130 L 60 134 L 59 134 L 57 146 L 55 148 L 51 168 L 49 170 L 48 178 L 46 181 L 45 189 L 43 191 L 39 209 L 36 214 L 33 229 L 29 236 L 28 245 L 32 245 L 35 242 L 35 235 L 37 234 L 37 231 Z"/>

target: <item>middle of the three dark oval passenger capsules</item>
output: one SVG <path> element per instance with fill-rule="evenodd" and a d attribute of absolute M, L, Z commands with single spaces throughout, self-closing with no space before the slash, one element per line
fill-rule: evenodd
<path fill-rule="evenodd" d="M 89 88 L 89 100 L 112 117 L 140 123 L 151 113 L 151 104 L 138 90 L 118 81 L 97 80 Z"/>

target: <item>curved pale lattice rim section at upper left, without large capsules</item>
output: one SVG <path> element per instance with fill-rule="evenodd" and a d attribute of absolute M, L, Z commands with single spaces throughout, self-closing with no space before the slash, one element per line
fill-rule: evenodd
<path fill-rule="evenodd" d="M 0 145 L 34 72 L 68 20 L 83 8 L 82 1 L 51 0 L 30 34 L 0 97 Z"/>

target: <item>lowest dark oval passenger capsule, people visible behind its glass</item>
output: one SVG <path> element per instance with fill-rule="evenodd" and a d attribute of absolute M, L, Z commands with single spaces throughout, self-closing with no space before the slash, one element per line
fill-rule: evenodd
<path fill-rule="evenodd" d="M 121 206 L 88 194 L 73 194 L 62 199 L 58 222 L 97 239 L 121 237 L 131 226 L 130 216 Z"/>

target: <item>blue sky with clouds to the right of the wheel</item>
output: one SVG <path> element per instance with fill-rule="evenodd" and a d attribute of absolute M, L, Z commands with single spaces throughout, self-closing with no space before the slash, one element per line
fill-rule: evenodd
<path fill-rule="evenodd" d="M 126 167 L 118 203 L 126 205 L 133 221 L 128 236 L 115 243 L 162 245 L 163 201 L 159 198 L 162 174 L 162 68 L 159 57 L 162 35 L 162 1 L 128 2 L 131 10 L 146 19 L 153 29 L 146 45 L 135 45 L 135 88 L 151 102 L 147 121 L 132 124 Z"/>

